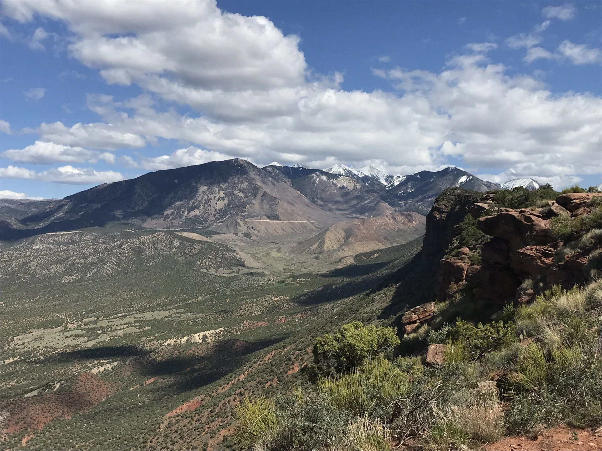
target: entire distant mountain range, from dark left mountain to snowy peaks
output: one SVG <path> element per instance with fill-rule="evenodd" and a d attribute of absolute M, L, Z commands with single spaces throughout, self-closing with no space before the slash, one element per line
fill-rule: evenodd
<path fill-rule="evenodd" d="M 283 232 L 323 229 L 349 219 L 415 212 L 426 215 L 445 188 L 500 189 L 459 168 L 390 176 L 374 167 L 327 170 L 277 162 L 264 168 L 242 159 L 147 173 L 60 200 L 0 205 L 0 238 L 18 239 L 107 224 L 146 229 L 249 229 L 278 221 Z M 246 222 L 241 225 L 240 221 Z M 401 221 L 403 222 L 403 221 Z M 267 224 L 263 224 L 267 225 Z M 265 227 L 255 227 L 265 231 Z M 272 230 L 268 234 L 278 233 Z"/>

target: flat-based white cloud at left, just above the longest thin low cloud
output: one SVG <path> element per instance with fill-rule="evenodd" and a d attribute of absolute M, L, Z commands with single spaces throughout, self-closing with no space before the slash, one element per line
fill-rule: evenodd
<path fill-rule="evenodd" d="M 96 163 L 99 160 L 104 160 L 107 163 L 115 162 L 115 156 L 109 152 L 101 153 L 82 147 L 63 146 L 62 144 L 46 143 L 44 141 L 36 141 L 31 146 L 25 147 L 25 149 L 6 150 L 0 153 L 0 156 L 11 161 L 33 164 L 51 164 L 53 162 Z"/>

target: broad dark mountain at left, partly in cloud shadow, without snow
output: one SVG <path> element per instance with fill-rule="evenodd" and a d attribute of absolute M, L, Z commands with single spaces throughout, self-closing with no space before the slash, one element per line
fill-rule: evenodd
<path fill-rule="evenodd" d="M 122 222 L 151 229 L 219 224 L 228 218 L 333 221 L 279 173 L 241 159 L 209 162 L 95 186 L 18 222 L 2 221 L 4 239 Z"/>

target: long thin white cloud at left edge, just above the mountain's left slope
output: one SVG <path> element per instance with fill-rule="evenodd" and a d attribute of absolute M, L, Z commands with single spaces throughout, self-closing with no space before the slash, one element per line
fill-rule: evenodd
<path fill-rule="evenodd" d="M 92 168 L 74 168 L 71 165 L 37 172 L 12 165 L 0 168 L 0 178 L 42 180 L 44 182 L 66 183 L 68 185 L 91 185 L 112 183 L 123 180 L 122 174 L 115 171 L 96 171 Z"/>

